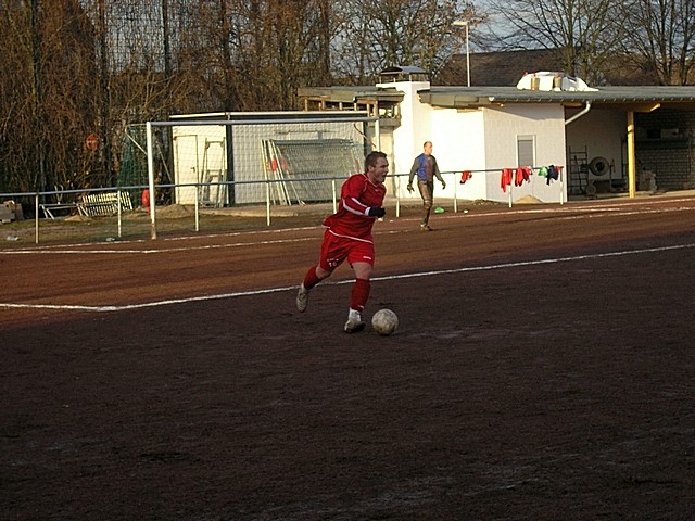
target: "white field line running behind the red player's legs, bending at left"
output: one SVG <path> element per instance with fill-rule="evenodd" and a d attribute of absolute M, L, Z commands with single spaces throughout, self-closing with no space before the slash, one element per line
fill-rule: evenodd
<path fill-rule="evenodd" d="M 485 271 L 492 269 L 509 269 L 509 268 L 518 268 L 525 266 L 538 266 L 538 265 L 547 265 L 547 264 L 558 264 L 558 263 L 569 263 L 577 260 L 587 260 L 594 258 L 607 258 L 607 257 L 620 257 L 626 255 L 643 255 L 649 253 L 657 252 L 668 252 L 673 250 L 685 250 L 695 247 L 695 243 L 691 244 L 675 244 L 671 246 L 660 246 L 660 247 L 647 247 L 641 250 L 623 250 L 618 252 L 607 252 L 607 253 L 595 253 L 587 255 L 576 255 L 571 257 L 557 257 L 557 258 L 545 258 L 540 260 L 525 260 L 518 263 L 504 263 L 504 264 L 492 264 L 486 266 L 469 266 L 466 268 L 454 268 L 454 269 L 440 269 L 432 271 L 418 271 L 414 274 L 402 274 L 402 275 L 391 275 L 383 277 L 374 277 L 371 280 L 397 280 L 397 279 L 412 279 L 419 277 L 433 277 L 438 275 L 451 275 L 451 274 L 464 274 L 470 271 Z M 337 282 L 326 282 L 326 285 L 333 284 L 350 284 L 352 280 L 343 280 Z M 296 291 L 296 285 L 289 287 L 280 287 L 280 288 L 268 288 L 264 290 L 251 290 L 251 291 L 240 291 L 233 293 L 222 293 L 218 295 L 205 295 L 205 296 L 193 296 L 189 298 L 173 298 L 166 301 L 154 301 L 147 302 L 141 304 L 128 304 L 128 305 L 113 305 L 113 306 L 79 306 L 79 305 L 61 305 L 61 304 L 12 304 L 12 303 L 0 303 L 0 308 L 24 308 L 24 309 L 58 309 L 58 310 L 78 310 L 78 312 L 124 312 L 129 309 L 142 309 L 147 307 L 161 307 L 168 306 L 173 304 L 188 304 L 192 302 L 204 302 L 204 301 L 216 301 L 220 298 L 236 298 L 240 296 L 254 296 L 254 295 L 263 295 L 267 293 L 278 293 L 283 291 Z"/>

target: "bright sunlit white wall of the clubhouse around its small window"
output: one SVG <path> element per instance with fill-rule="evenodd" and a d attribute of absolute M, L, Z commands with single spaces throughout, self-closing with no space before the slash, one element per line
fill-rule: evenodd
<path fill-rule="evenodd" d="M 432 141 L 432 154 L 446 181 L 445 190 L 434 182 L 435 198 L 508 201 L 509 192 L 502 190 L 500 181 L 503 168 L 520 166 L 518 136 L 532 136 L 535 141 L 535 165 L 530 166 L 565 166 L 565 112 L 559 104 L 509 104 L 470 111 L 434 109 L 420 103 L 417 94 L 417 90 L 429 88 L 428 84 L 400 82 L 395 86 L 405 96 L 401 105 L 401 126 L 393 134 L 391 173 L 407 174 L 414 158 L 422 152 L 422 143 Z M 472 178 L 462 185 L 464 170 L 470 170 Z M 401 177 L 399 195 L 418 199 L 417 191 L 407 192 L 405 179 Z M 548 185 L 545 178 L 535 175 L 521 187 L 511 186 L 513 202 L 525 195 L 542 202 L 560 202 L 566 200 L 566 182 Z"/>

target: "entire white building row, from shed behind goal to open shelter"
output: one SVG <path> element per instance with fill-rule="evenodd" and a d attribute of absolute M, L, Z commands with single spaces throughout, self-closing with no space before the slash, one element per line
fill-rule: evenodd
<path fill-rule="evenodd" d="M 694 87 L 595 89 L 546 72 L 516 87 L 433 87 L 417 67 L 390 67 L 375 86 L 299 96 L 304 111 L 177 116 L 176 202 L 328 201 L 369 150 L 390 158 L 390 195 L 417 199 L 406 186 L 425 141 L 446 180 L 445 190 L 435 182 L 439 198 L 564 202 L 695 188 Z M 559 177 L 541 175 L 551 166 Z M 533 174 L 515 182 L 520 167 Z"/>

